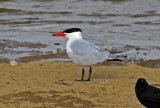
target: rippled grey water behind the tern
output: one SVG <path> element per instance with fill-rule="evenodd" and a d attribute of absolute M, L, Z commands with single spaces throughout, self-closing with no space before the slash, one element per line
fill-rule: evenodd
<path fill-rule="evenodd" d="M 71 27 L 81 28 L 85 39 L 103 48 L 133 46 L 139 49 L 136 58 L 160 59 L 160 0 L 1 0 L 0 39 L 47 46 L 1 46 L 0 57 L 64 50 L 67 39 L 51 34 Z M 11 53 L 17 50 L 22 52 Z"/>

